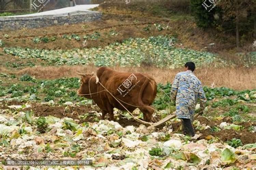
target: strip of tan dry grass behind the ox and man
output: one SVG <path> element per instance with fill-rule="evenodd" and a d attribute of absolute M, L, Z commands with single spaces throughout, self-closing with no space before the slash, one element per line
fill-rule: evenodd
<path fill-rule="evenodd" d="M 143 72 L 151 75 L 157 83 L 172 82 L 176 73 L 183 69 L 160 69 L 155 67 L 112 67 L 117 71 Z M 62 77 L 78 77 L 77 71 L 83 73 L 96 72 L 95 66 L 61 66 L 25 68 L 15 72 L 22 75 L 28 73 L 39 79 L 56 79 Z M 204 86 L 229 87 L 236 90 L 256 89 L 256 68 L 200 68 L 196 76 Z"/>

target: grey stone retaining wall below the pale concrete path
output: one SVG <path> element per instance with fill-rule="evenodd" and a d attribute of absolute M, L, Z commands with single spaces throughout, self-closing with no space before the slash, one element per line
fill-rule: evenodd
<path fill-rule="evenodd" d="M 69 25 L 80 22 L 99 20 L 100 12 L 75 12 L 59 16 L 40 17 L 1 17 L 0 30 L 16 30 L 21 28 L 40 28 L 53 25 Z"/>

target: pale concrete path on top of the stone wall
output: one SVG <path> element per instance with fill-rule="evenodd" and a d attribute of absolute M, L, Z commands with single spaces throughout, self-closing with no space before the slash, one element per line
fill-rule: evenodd
<path fill-rule="evenodd" d="M 39 12 L 34 14 L 27 14 L 27 15 L 15 15 L 15 16 L 7 16 L 7 17 L 0 17 L 0 18 L 34 18 L 34 17 L 47 17 L 47 16 L 61 16 L 68 13 L 90 13 L 88 9 L 94 8 L 99 6 L 99 4 L 94 5 L 76 5 L 72 7 L 66 7 L 66 8 L 60 8 L 57 10 L 51 10 L 51 11 L 45 11 L 45 12 Z"/>

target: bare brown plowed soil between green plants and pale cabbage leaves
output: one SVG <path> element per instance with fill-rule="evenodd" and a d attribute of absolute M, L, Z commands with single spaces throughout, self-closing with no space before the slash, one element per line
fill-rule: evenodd
<path fill-rule="evenodd" d="M 3 103 L 1 104 L 0 108 L 1 109 L 8 109 L 8 105 L 23 105 L 25 103 L 18 102 L 18 101 L 12 101 L 9 103 Z M 31 107 L 23 109 L 24 112 L 26 111 L 33 111 L 35 116 L 55 116 L 58 118 L 63 118 L 63 117 L 70 117 L 72 119 L 78 119 L 80 120 L 79 123 L 83 122 L 95 122 L 95 118 L 97 117 L 94 115 L 93 111 L 100 112 L 100 109 L 96 107 L 91 107 L 91 106 L 80 106 L 80 107 L 71 107 L 68 106 L 68 108 L 65 109 L 65 106 L 50 106 L 50 105 L 41 105 L 38 103 L 32 103 Z M 83 115 L 85 113 L 89 113 L 89 116 L 87 116 L 86 119 L 79 119 L 80 115 Z M 100 119 L 100 117 L 98 117 Z M 106 119 L 108 116 L 106 116 Z M 157 118 L 158 119 L 158 118 Z M 211 128 L 213 126 L 219 125 L 221 122 L 229 122 L 231 123 L 231 120 L 228 117 L 225 117 L 224 119 L 220 121 L 209 121 L 205 117 L 198 117 L 197 120 L 200 121 L 200 124 L 206 124 L 209 125 Z M 122 126 L 128 126 L 128 125 L 133 125 L 135 127 L 138 127 L 140 123 L 133 119 L 127 119 L 123 117 L 122 115 L 119 115 L 118 120 L 116 120 L 120 125 Z M 241 139 L 243 145 L 248 144 L 248 143 L 255 143 L 256 142 L 256 133 L 249 132 L 247 129 L 249 126 L 256 126 L 256 123 L 251 123 L 251 122 L 243 122 L 240 123 L 239 125 L 243 125 L 244 129 L 241 131 L 235 131 L 233 129 L 224 129 L 219 132 L 211 132 L 211 129 L 206 129 L 199 131 L 198 133 L 201 133 L 202 136 L 200 136 L 199 139 L 205 139 L 209 135 L 212 135 L 214 137 L 218 137 L 220 140 L 223 142 L 226 142 L 227 140 L 231 140 L 233 138 Z M 161 127 L 158 127 L 158 129 L 162 129 L 164 125 Z M 173 123 L 172 128 L 173 132 L 175 133 L 181 133 L 180 131 L 181 127 L 181 122 L 178 123 Z"/>

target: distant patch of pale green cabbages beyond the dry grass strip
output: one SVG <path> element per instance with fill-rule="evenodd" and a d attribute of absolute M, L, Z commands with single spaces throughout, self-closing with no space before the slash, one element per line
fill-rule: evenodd
<path fill-rule="evenodd" d="M 71 50 L 44 50 L 4 48 L 6 54 L 22 59 L 40 58 L 48 65 L 88 65 L 95 66 L 137 66 L 144 62 L 157 67 L 177 68 L 184 62 L 193 60 L 198 66 L 207 63 L 224 65 L 225 62 L 209 52 L 175 48 L 176 39 L 167 36 L 149 38 L 129 38 L 123 43 L 114 43 L 104 48 Z M 170 42 L 172 44 L 170 44 Z"/>

